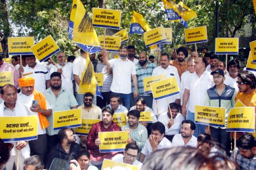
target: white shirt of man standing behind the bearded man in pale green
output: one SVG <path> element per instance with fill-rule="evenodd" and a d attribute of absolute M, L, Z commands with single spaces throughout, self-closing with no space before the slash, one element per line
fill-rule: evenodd
<path fill-rule="evenodd" d="M 61 69 L 61 65 L 57 64 L 57 67 Z M 51 73 L 57 72 L 57 67 L 53 66 L 50 70 L 50 77 Z M 63 77 L 64 75 L 64 77 Z M 67 63 L 62 67 L 62 74 L 61 74 L 61 86 L 69 91 L 73 91 L 73 69 L 72 65 L 67 65 Z"/>

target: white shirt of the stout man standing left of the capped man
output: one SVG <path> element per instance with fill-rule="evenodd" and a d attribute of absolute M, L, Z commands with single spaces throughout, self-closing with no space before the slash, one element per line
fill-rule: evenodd
<path fill-rule="evenodd" d="M 214 86 L 214 82 L 208 71 L 203 72 L 201 77 L 196 72 L 192 73 L 189 82 L 185 87 L 189 89 L 189 111 L 195 113 L 195 105 L 204 105 L 206 91 Z"/>

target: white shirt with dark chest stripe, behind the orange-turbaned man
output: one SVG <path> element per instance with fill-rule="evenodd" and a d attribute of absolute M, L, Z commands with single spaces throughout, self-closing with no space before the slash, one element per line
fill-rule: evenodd
<path fill-rule="evenodd" d="M 44 65 L 39 65 L 36 63 L 34 69 L 31 67 L 24 67 L 24 77 L 34 77 L 34 89 L 39 92 L 44 92 L 46 89 L 46 81 L 49 80 L 49 73 L 48 70 Z"/>

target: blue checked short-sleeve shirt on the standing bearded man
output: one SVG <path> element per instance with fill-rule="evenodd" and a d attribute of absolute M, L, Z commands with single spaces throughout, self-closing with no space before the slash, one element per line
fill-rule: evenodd
<path fill-rule="evenodd" d="M 146 66 L 146 69 L 141 67 L 139 65 L 139 62 L 136 65 L 136 73 L 137 73 L 137 84 L 138 84 L 138 90 L 139 95 L 141 96 L 150 96 L 151 94 L 144 93 L 144 85 L 143 85 L 143 79 L 146 77 L 152 76 L 153 70 L 156 68 L 156 65 L 148 60 L 148 65 Z"/>

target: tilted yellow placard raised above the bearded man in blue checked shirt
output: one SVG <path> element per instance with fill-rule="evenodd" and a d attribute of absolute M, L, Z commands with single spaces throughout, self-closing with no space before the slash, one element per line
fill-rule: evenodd
<path fill-rule="evenodd" d="M 145 32 L 143 34 L 143 38 L 146 47 L 153 46 L 161 42 L 166 42 L 166 34 L 164 32 L 164 27 L 160 26 L 158 28 L 154 28 L 148 32 Z"/>

